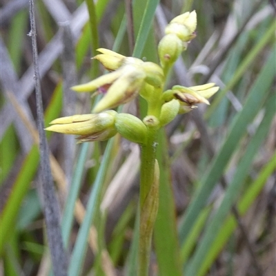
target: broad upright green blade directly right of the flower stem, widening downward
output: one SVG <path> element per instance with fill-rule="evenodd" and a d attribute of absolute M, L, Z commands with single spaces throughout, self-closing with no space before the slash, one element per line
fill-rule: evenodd
<path fill-rule="evenodd" d="M 160 131 L 159 134 L 157 159 L 160 167 L 159 208 L 153 235 L 159 276 L 181 276 L 175 200 L 172 193 L 165 131 Z"/>

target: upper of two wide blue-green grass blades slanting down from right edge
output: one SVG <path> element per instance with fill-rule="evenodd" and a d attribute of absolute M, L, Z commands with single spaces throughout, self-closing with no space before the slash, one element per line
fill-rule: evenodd
<path fill-rule="evenodd" d="M 186 241 L 186 238 L 195 223 L 196 217 L 206 204 L 206 200 L 211 191 L 213 191 L 215 184 L 219 178 L 221 178 L 222 173 L 224 173 L 224 169 L 228 164 L 230 157 L 233 155 L 237 143 L 246 131 L 246 126 L 251 120 L 253 120 L 259 111 L 260 106 L 264 102 L 268 89 L 275 77 L 275 58 L 274 49 L 270 56 L 268 56 L 268 60 L 262 68 L 262 72 L 260 72 L 252 89 L 250 89 L 250 93 L 244 104 L 244 109 L 242 109 L 242 111 L 233 119 L 233 123 L 230 126 L 228 137 L 226 138 L 224 145 L 222 145 L 216 158 L 210 164 L 210 168 L 201 180 L 201 186 L 196 191 L 192 202 L 190 202 L 184 215 L 184 220 L 181 222 L 179 228 L 181 244 Z"/>

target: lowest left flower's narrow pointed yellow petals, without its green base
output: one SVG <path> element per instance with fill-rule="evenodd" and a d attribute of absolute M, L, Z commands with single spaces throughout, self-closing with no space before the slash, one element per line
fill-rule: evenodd
<path fill-rule="evenodd" d="M 83 114 L 57 118 L 50 122 L 48 131 L 61 134 L 77 134 L 80 142 L 103 141 L 115 136 L 115 116 L 117 112 L 109 110 L 100 114 Z"/>

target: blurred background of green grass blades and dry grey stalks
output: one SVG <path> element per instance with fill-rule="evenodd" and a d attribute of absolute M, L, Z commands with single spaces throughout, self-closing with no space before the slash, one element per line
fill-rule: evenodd
<path fill-rule="evenodd" d="M 103 73 L 90 59 L 97 47 L 157 62 L 166 23 L 197 10 L 197 38 L 168 87 L 221 89 L 210 107 L 178 116 L 160 135 L 150 273 L 275 275 L 275 1 L 34 2 L 46 125 L 90 112 L 97 98 L 70 86 Z M 1 0 L 0 275 L 8 276 L 51 274 L 28 5 Z M 123 110 L 143 114 L 144 103 Z M 82 145 L 47 136 L 68 275 L 135 275 L 139 148 L 119 136 Z"/>

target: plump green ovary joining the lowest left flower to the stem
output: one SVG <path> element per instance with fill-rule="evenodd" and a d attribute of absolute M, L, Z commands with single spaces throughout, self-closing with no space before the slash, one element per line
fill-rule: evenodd
<path fill-rule="evenodd" d="M 144 144 L 146 142 L 146 125 L 131 114 L 120 113 L 115 117 L 115 127 L 119 134 L 131 142 Z"/>

